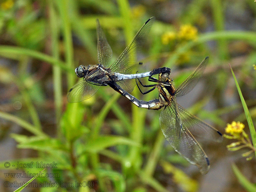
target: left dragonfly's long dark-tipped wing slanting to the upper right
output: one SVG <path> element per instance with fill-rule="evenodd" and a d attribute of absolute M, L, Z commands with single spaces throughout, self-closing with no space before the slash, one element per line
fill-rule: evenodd
<path fill-rule="evenodd" d="M 116 61 L 110 66 L 112 72 L 118 72 L 123 74 L 130 74 L 133 67 L 138 66 L 136 52 L 140 51 L 140 46 L 146 40 L 146 36 L 155 21 L 155 17 L 151 17 L 140 28 L 137 34 L 133 37 L 132 42 L 125 48 L 122 54 L 116 59 Z"/>

